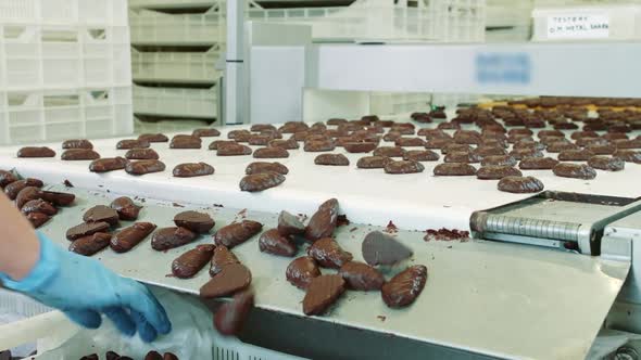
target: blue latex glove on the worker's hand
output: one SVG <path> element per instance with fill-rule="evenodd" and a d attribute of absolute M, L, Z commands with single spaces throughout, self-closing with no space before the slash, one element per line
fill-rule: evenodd
<path fill-rule="evenodd" d="M 38 263 L 17 282 L 0 273 L 5 287 L 62 310 L 85 327 L 98 329 L 104 313 L 125 335 L 138 332 L 148 343 L 172 330 L 164 308 L 144 285 L 56 246 L 41 233 L 38 240 Z"/>

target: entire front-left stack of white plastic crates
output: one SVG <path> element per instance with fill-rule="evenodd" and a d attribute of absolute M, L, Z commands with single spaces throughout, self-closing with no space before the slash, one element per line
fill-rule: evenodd
<path fill-rule="evenodd" d="M 0 2 L 0 145 L 133 131 L 126 0 Z"/>

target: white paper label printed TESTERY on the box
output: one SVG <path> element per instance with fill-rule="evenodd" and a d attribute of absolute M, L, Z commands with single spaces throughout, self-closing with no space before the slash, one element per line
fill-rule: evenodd
<path fill-rule="evenodd" d="M 549 39 L 605 39 L 609 36 L 607 14 L 560 14 L 548 16 Z"/>

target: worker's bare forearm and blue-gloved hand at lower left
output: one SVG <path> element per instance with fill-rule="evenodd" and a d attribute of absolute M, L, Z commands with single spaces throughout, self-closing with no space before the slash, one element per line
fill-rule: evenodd
<path fill-rule="evenodd" d="M 146 342 L 171 331 L 165 310 L 144 285 L 36 233 L 3 194 L 0 281 L 86 327 L 100 326 L 104 314 L 126 335 L 138 332 Z"/>

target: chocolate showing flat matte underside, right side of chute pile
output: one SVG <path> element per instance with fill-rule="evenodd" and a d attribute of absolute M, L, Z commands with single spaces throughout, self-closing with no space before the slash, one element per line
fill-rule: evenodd
<path fill-rule="evenodd" d="M 394 265 L 410 258 L 414 253 L 397 239 L 373 231 L 365 235 L 361 246 L 363 258 L 372 266 Z"/>

